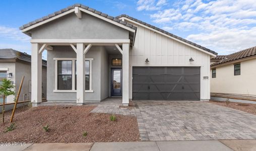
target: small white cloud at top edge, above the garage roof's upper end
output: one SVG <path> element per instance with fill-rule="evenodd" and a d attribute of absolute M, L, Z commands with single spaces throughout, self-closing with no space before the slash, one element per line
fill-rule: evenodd
<path fill-rule="evenodd" d="M 137 10 L 138 11 L 155 11 L 155 10 L 160 10 L 162 6 L 166 5 L 167 1 L 166 0 L 139 0 L 137 2 Z"/>

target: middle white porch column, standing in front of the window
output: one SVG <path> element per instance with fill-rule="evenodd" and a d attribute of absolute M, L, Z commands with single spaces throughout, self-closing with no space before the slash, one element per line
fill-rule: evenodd
<path fill-rule="evenodd" d="M 85 45 L 77 43 L 77 104 L 85 102 Z"/>

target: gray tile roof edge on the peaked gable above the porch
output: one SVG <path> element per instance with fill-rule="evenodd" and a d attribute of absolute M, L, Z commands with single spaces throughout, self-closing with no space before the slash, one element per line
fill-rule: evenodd
<path fill-rule="evenodd" d="M 107 14 L 101 13 L 101 12 L 95 10 L 95 9 L 89 8 L 89 7 L 84 6 L 84 5 L 81 5 L 81 4 L 75 4 L 75 5 L 69 6 L 69 7 L 65 8 L 65 9 L 61 9 L 61 10 L 59 10 L 59 11 L 57 11 L 57 12 L 54 12 L 54 13 L 52 13 L 52 14 L 49 14 L 49 15 L 47 15 L 47 16 L 45 16 L 45 17 L 42 17 L 42 18 L 39 18 L 39 19 L 34 20 L 34 21 L 32 21 L 32 22 L 29 22 L 28 24 L 25 24 L 25 25 L 21 26 L 21 27 L 20 27 L 20 30 L 23 30 L 23 29 L 25 29 L 25 28 L 27 28 L 27 27 L 29 27 L 29 26 L 32 26 L 32 25 L 37 24 L 37 23 L 39 23 L 39 22 L 42 22 L 42 21 L 44 21 L 44 20 L 50 19 L 50 18 L 52 18 L 52 17 L 54 17 L 54 16 L 57 16 L 57 15 L 59 15 L 59 14 L 61 14 L 61 13 L 67 12 L 67 11 L 69 11 L 69 10 L 72 10 L 72 9 L 74 9 L 75 7 L 83 8 L 83 9 L 88 10 L 88 11 L 90 11 L 90 12 L 93 12 L 93 13 L 95 13 L 95 14 L 97 14 L 97 15 L 103 16 L 103 17 L 105 17 L 105 18 L 107 18 L 107 19 L 109 19 L 109 20 L 115 21 L 115 22 L 117 22 L 117 23 L 119 23 L 119 24 L 122 24 L 122 25 L 124 25 L 124 26 L 126 26 L 126 27 L 129 27 L 129 28 L 131 28 L 131 29 L 134 29 L 135 31 L 137 30 L 137 27 L 133 26 L 132 24 L 129 24 L 129 23 L 127 23 L 127 22 L 123 22 L 123 21 L 118 20 L 118 19 L 116 19 L 116 18 L 114 18 L 114 17 L 112 17 L 112 16 L 109 16 L 109 15 L 107 15 Z"/>

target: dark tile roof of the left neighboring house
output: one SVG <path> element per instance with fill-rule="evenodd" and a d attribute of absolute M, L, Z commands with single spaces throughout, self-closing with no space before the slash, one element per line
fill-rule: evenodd
<path fill-rule="evenodd" d="M 0 59 L 19 59 L 31 62 L 31 55 L 14 49 L 0 49 Z M 42 59 L 42 65 L 47 66 L 47 61 Z"/>

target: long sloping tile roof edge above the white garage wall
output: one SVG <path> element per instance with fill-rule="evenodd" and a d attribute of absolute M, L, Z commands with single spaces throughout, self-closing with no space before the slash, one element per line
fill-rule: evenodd
<path fill-rule="evenodd" d="M 218 54 L 217 52 L 215 52 L 215 51 L 213 51 L 213 50 L 210 50 L 210 49 L 208 49 L 208 48 L 206 48 L 206 47 L 203 47 L 203 46 L 201 46 L 201 45 L 198 45 L 198 44 L 196 44 L 196 43 L 194 43 L 194 42 L 185 40 L 185 39 L 183 39 L 183 38 L 181 38 L 181 37 L 178 37 L 178 36 L 176 36 L 176 35 L 173 35 L 173 34 L 167 32 L 167 31 L 164 31 L 164 30 L 162 30 L 162 29 L 160 29 L 160 28 L 157 28 L 157 27 L 155 27 L 155 26 L 153 26 L 153 25 L 150 25 L 150 24 L 148 24 L 148 23 L 146 23 L 146 22 L 140 21 L 140 20 L 135 19 L 135 18 L 133 18 L 133 17 L 130 17 L 130 16 L 128 16 L 128 15 L 122 14 L 122 15 L 117 16 L 116 18 L 119 19 L 119 18 L 121 18 L 121 17 L 128 18 L 128 19 L 130 19 L 130 20 L 133 20 L 133 21 L 135 21 L 135 22 L 138 22 L 138 23 L 140 23 L 140 24 L 143 24 L 143 25 L 145 25 L 145 26 L 148 26 L 148 27 L 150 27 L 150 28 L 153 28 L 153 29 L 155 29 L 155 30 L 157 30 L 157 31 L 160 31 L 160 32 L 162 32 L 162 33 L 164 33 L 164 34 L 167 34 L 167 35 L 171 36 L 171 37 L 174 37 L 174 38 L 176 38 L 176 39 L 179 39 L 179 40 L 181 40 L 181 41 L 184 41 L 184 42 L 186 42 L 186 43 L 188 43 L 188 44 L 194 45 L 194 46 L 196 46 L 196 47 L 198 47 L 198 48 L 201 48 L 201 49 L 203 49 L 203 50 L 206 50 L 206 51 L 208 51 L 208 52 L 211 52 L 211 53 L 213 53 L 213 54 L 215 54 L 215 55 Z"/>

